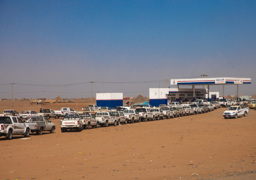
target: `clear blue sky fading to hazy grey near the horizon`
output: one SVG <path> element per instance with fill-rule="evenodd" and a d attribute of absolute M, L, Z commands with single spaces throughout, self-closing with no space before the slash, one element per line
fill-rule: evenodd
<path fill-rule="evenodd" d="M 93 96 L 148 96 L 164 77 L 168 87 L 205 72 L 252 78 L 239 91 L 256 94 L 255 9 L 255 1 L 2 0 L 0 98 L 11 98 L 9 83 L 19 83 L 15 98 L 55 98 L 61 88 L 63 98 L 85 98 L 91 81 L 141 82 L 93 83 Z"/>

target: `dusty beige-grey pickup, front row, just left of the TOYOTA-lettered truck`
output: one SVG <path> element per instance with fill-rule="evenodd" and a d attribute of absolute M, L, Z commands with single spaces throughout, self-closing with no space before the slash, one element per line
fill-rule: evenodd
<path fill-rule="evenodd" d="M 42 135 L 43 131 L 54 133 L 55 130 L 55 124 L 46 117 L 30 117 L 26 124 L 29 125 L 30 132 L 36 132 L 38 135 Z"/>

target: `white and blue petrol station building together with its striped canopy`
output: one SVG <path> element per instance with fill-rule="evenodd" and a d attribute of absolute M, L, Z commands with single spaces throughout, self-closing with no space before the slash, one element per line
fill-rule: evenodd
<path fill-rule="evenodd" d="M 173 100 L 193 101 L 194 99 L 219 99 L 219 92 L 210 92 L 210 85 L 223 85 L 223 95 L 225 92 L 224 85 L 235 85 L 237 88 L 239 84 L 251 84 L 250 78 L 196 78 L 196 79 L 171 79 L 171 85 L 176 85 L 177 88 L 150 88 L 149 100 L 152 106 L 159 106 L 159 104 L 168 104 Z M 191 85 L 192 88 L 180 88 L 182 85 Z M 205 87 L 196 88 L 196 86 Z"/>

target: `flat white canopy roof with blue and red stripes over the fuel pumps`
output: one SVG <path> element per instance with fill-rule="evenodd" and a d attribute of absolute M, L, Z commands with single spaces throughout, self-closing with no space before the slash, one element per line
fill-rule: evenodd
<path fill-rule="evenodd" d="M 195 78 L 171 79 L 171 85 L 221 85 L 221 84 L 251 84 L 251 78 Z"/>

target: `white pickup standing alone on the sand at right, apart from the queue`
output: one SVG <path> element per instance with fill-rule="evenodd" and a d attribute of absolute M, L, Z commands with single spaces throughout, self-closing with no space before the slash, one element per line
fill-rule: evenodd
<path fill-rule="evenodd" d="M 241 106 L 230 106 L 226 111 L 223 112 L 223 117 L 227 119 L 228 117 L 237 118 L 237 116 L 247 116 L 249 108 L 241 108 Z"/>

